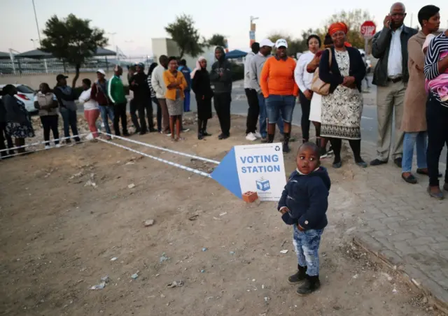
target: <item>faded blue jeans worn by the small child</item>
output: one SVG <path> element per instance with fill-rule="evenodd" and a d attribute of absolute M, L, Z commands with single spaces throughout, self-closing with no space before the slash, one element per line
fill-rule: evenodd
<path fill-rule="evenodd" d="M 319 244 L 323 229 L 300 231 L 294 226 L 293 244 L 299 266 L 307 266 L 307 275 L 319 275 Z"/>

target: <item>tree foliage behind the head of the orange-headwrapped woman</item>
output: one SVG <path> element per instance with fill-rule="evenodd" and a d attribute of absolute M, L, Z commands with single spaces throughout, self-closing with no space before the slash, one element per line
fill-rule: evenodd
<path fill-rule="evenodd" d="M 364 38 L 360 34 L 361 24 L 367 20 L 373 20 L 373 17 L 367 11 L 361 9 L 345 11 L 342 10 L 339 13 L 333 14 L 328 20 L 325 21 L 325 25 L 328 26 L 334 22 L 344 22 L 349 27 L 347 33 L 347 41 L 356 48 L 364 48 Z M 326 34 L 326 30 L 325 33 Z"/>

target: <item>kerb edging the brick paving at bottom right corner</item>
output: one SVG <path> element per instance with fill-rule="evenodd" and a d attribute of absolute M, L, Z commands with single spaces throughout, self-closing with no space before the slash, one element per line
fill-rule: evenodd
<path fill-rule="evenodd" d="M 448 292 L 433 280 L 430 280 L 423 271 L 415 268 L 412 264 L 403 263 L 395 252 L 383 250 L 383 247 L 365 232 L 357 232 L 353 237 L 353 243 L 363 248 L 366 252 L 373 254 L 388 268 L 398 271 L 402 275 L 403 280 L 428 298 L 430 305 L 448 314 Z"/>

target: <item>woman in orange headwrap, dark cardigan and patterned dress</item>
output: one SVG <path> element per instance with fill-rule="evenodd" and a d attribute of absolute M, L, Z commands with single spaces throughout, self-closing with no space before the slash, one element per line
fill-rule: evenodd
<path fill-rule="evenodd" d="M 330 25 L 328 33 L 334 46 L 323 52 L 319 63 L 319 78 L 330 83 L 330 94 L 322 96 L 321 136 L 330 138 L 335 153 L 334 168 L 342 166 L 342 139 L 349 140 L 356 164 L 365 168 L 367 164 L 360 156 L 360 120 L 363 112 L 360 91 L 365 66 L 360 52 L 346 43 L 347 31 L 344 22 Z"/>

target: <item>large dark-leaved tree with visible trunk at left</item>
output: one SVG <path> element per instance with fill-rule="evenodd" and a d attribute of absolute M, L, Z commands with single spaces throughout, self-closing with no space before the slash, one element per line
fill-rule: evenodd
<path fill-rule="evenodd" d="M 64 19 L 56 15 L 45 22 L 41 50 L 50 52 L 63 62 L 71 64 L 76 69 L 73 85 L 79 77 L 79 69 L 85 59 L 93 57 L 97 48 L 107 45 L 104 31 L 90 27 L 90 20 L 83 20 L 70 14 Z"/>

